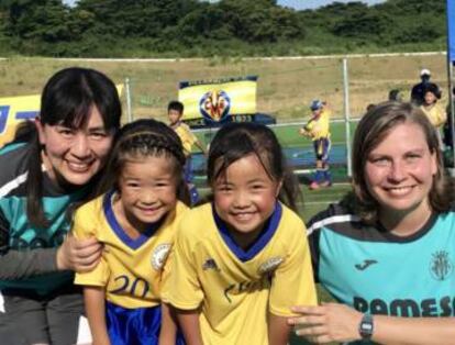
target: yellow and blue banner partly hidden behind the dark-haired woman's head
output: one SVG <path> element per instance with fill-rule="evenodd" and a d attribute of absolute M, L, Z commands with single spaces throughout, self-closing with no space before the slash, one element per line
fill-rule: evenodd
<path fill-rule="evenodd" d="M 116 85 L 122 94 L 123 85 Z M 41 94 L 0 98 L 0 148 L 14 138 L 18 124 L 33 120 L 40 113 Z"/>

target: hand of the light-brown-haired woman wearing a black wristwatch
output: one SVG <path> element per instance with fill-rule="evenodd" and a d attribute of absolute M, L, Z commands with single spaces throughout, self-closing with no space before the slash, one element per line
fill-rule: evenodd
<path fill-rule="evenodd" d="M 358 325 L 362 313 L 344 304 L 323 303 L 317 307 L 292 307 L 300 316 L 288 319 L 299 336 L 317 344 L 360 340 Z"/>

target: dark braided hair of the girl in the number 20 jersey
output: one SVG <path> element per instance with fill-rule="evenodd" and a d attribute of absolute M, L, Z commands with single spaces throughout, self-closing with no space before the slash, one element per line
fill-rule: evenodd
<path fill-rule="evenodd" d="M 116 133 L 107 164 L 107 174 L 102 177 L 98 193 L 118 188 L 119 175 L 127 160 L 151 156 L 173 159 L 174 174 L 178 176 L 177 198 L 189 204 L 189 194 L 182 178 L 186 158 L 181 141 L 173 129 L 153 119 L 127 123 Z"/>

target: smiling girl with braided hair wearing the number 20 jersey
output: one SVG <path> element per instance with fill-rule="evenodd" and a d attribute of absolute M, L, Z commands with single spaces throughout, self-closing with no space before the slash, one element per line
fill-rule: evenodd
<path fill-rule="evenodd" d="M 176 225 L 189 203 L 184 165 L 181 142 L 166 124 L 126 124 L 100 183 L 103 194 L 75 213 L 76 236 L 104 245 L 100 264 L 75 279 L 84 286 L 97 345 L 182 342 L 160 292 Z"/>

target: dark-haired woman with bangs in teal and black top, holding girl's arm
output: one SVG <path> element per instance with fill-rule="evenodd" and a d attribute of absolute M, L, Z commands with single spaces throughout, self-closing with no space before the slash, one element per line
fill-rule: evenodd
<path fill-rule="evenodd" d="M 101 245 L 67 236 L 70 210 L 91 198 L 120 127 L 114 84 L 86 68 L 56 73 L 40 116 L 0 152 L 2 344 L 75 344 L 84 302 L 73 272 L 96 266 Z"/>

